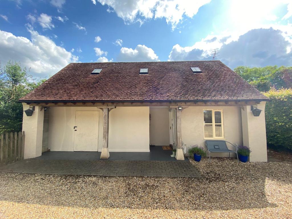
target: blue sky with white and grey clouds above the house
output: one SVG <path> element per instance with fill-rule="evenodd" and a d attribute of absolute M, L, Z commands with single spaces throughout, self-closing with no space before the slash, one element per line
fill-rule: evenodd
<path fill-rule="evenodd" d="M 292 3 L 1 0 L 0 60 L 48 77 L 69 62 L 211 60 L 292 65 Z"/>

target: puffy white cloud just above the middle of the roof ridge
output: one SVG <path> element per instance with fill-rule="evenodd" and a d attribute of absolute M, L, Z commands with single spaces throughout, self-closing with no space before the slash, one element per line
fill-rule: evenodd
<path fill-rule="evenodd" d="M 135 49 L 122 47 L 117 58 L 121 62 L 160 61 L 151 48 L 138 45 Z"/>

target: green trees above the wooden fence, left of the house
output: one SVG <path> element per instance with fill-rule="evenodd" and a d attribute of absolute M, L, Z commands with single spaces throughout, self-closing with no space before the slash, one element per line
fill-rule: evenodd
<path fill-rule="evenodd" d="M 45 79 L 36 79 L 19 62 L 0 66 L 0 133 L 21 131 L 22 104 L 18 99 L 39 86 Z"/>

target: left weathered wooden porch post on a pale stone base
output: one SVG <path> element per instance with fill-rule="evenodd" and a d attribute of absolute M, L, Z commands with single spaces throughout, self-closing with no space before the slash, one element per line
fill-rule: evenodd
<path fill-rule="evenodd" d="M 100 159 L 109 158 L 109 108 L 102 108 L 103 110 L 103 132 L 102 132 L 102 151 Z"/>

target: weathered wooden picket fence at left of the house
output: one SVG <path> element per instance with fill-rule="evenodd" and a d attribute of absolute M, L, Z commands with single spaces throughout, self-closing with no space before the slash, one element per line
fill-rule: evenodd
<path fill-rule="evenodd" d="M 23 160 L 24 157 L 24 131 L 2 133 L 0 136 L 0 165 Z"/>

